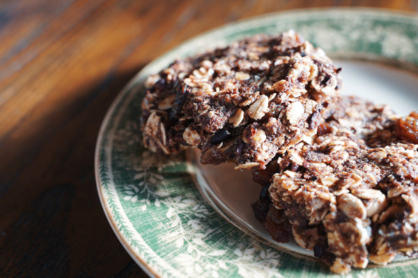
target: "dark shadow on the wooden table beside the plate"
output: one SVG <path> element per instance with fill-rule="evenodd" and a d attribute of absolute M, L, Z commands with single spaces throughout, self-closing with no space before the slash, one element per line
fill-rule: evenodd
<path fill-rule="evenodd" d="M 0 277 L 147 277 L 104 217 L 93 167 L 102 119 L 141 67 L 77 88 L 29 136 L 0 142 Z"/>

